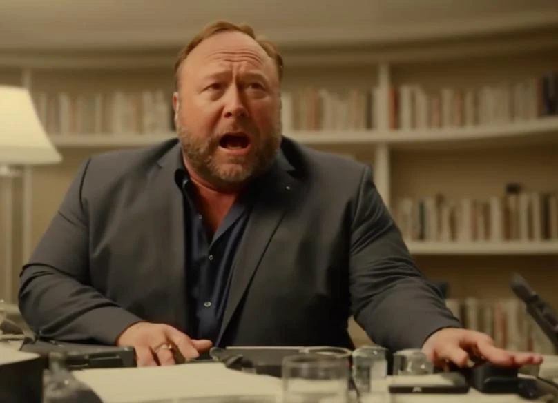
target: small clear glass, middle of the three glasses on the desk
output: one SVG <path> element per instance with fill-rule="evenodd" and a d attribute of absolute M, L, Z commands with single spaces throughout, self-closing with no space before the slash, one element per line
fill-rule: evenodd
<path fill-rule="evenodd" d="M 352 376 L 360 393 L 372 391 L 374 379 L 387 377 L 387 349 L 381 346 L 362 346 L 352 353 Z"/>

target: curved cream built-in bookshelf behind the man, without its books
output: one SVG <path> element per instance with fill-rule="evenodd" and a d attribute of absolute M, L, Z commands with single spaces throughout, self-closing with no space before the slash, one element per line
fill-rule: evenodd
<path fill-rule="evenodd" d="M 75 56 L 70 52 L 50 52 L 42 57 L 12 55 L 0 61 L 0 83 L 23 84 L 32 92 L 95 95 L 162 90 L 170 97 L 175 52 L 122 50 L 104 54 L 98 50 L 76 52 Z M 466 113 L 450 117 L 443 115 L 442 107 L 442 99 L 456 99 L 454 94 L 448 95 L 448 89 L 463 91 L 458 98 L 462 111 L 468 90 L 484 94 L 485 109 L 501 104 L 506 97 L 503 94 L 512 100 L 541 99 L 527 84 L 548 72 L 558 72 L 558 30 L 377 48 L 286 49 L 283 53 L 283 91 L 291 96 L 290 112 L 284 116 L 288 122 L 285 135 L 310 147 L 370 164 L 376 186 L 395 217 L 401 199 L 427 199 L 438 194 L 455 200 L 506 197 L 506 185 L 510 183 L 521 184 L 530 193 L 558 195 L 558 115 L 538 109 L 528 112 L 533 105 L 523 104 L 520 117 L 504 108 L 494 112 L 494 119 L 485 115 L 467 121 Z M 502 91 L 503 86 L 509 86 L 510 92 Z M 434 98 L 441 108 L 439 116 L 432 119 L 427 114 L 428 119 L 417 119 L 407 107 L 403 113 L 406 117 L 399 116 L 401 110 L 394 115 L 390 111 L 394 89 L 398 90 L 398 102 L 405 98 L 408 103 L 409 90 L 403 90 L 407 92 L 401 96 L 401 88 L 411 88 L 412 110 L 422 110 L 423 114 L 427 110 L 425 95 L 439 95 L 439 99 Z M 491 92 L 490 88 L 496 90 Z M 320 90 L 325 90 L 325 95 L 320 95 Z M 299 115 L 307 116 L 304 108 L 308 105 L 300 106 L 294 99 L 297 93 L 320 99 L 322 105 L 327 104 L 324 110 L 329 111 L 340 100 L 353 97 L 360 105 L 358 109 L 365 112 L 353 115 L 351 120 L 347 110 L 355 108 L 345 106 L 345 112 L 340 113 L 345 117 L 343 123 L 324 121 L 325 114 L 318 113 L 317 118 L 300 125 L 295 110 L 302 108 Z M 416 99 L 422 99 L 418 101 L 420 107 Z M 432 99 L 427 99 L 430 104 Z M 161 116 L 166 119 L 164 112 Z M 106 126 L 98 118 L 93 121 L 96 123 L 90 126 Z M 170 139 L 174 135 L 165 126 L 168 124 L 162 123 L 157 134 L 128 130 L 126 124 L 119 130 L 77 132 L 68 125 L 64 133 L 51 130 L 64 162 L 36 168 L 26 176 L 28 198 L 21 215 L 27 215 L 33 225 L 23 231 L 23 244 L 28 244 L 23 256 L 41 237 L 86 157 Z M 519 271 L 558 306 L 554 291 L 558 282 L 558 237 L 452 241 L 411 238 L 407 246 L 426 275 L 447 281 L 457 299 L 509 297 L 508 277 L 512 271 Z"/>

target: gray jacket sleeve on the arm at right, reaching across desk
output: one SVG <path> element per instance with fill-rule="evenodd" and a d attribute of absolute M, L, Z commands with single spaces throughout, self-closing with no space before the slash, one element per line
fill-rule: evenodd
<path fill-rule="evenodd" d="M 366 167 L 352 221 L 352 313 L 376 344 L 421 348 L 435 331 L 461 327 L 438 289 L 416 267 Z"/>

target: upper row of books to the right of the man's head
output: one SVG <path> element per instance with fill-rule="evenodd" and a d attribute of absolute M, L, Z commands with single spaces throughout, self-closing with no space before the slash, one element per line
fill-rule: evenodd
<path fill-rule="evenodd" d="M 304 88 L 282 95 L 283 127 L 295 131 L 421 130 L 528 121 L 558 115 L 557 88 L 557 72 L 478 88 L 433 90 L 405 84 L 343 94 Z"/>

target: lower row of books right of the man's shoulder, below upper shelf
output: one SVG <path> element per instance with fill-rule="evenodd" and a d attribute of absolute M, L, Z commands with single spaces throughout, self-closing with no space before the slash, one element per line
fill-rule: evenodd
<path fill-rule="evenodd" d="M 439 242 L 558 240 L 557 193 L 515 191 L 488 199 L 401 198 L 394 217 L 405 239 Z"/>

